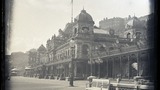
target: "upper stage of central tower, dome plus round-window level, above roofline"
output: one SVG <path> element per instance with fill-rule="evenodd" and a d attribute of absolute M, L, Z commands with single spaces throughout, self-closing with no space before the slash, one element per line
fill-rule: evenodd
<path fill-rule="evenodd" d="M 89 38 L 93 35 L 94 21 L 86 10 L 82 10 L 80 14 L 74 19 L 73 36 L 81 38 Z"/>

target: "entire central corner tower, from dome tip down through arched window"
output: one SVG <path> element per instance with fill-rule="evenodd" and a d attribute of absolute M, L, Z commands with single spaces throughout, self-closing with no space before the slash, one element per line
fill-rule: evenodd
<path fill-rule="evenodd" d="M 94 38 L 94 21 L 86 10 L 81 10 L 74 19 L 72 37 L 75 39 L 75 57 L 79 59 L 89 59 L 90 50 Z"/>

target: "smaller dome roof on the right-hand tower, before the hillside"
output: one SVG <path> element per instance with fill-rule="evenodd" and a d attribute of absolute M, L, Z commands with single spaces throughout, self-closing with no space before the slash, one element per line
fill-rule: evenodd
<path fill-rule="evenodd" d="M 128 21 L 128 23 L 125 26 L 126 29 L 144 28 L 144 27 L 145 27 L 144 24 L 137 17 L 133 17 L 131 20 Z"/>

